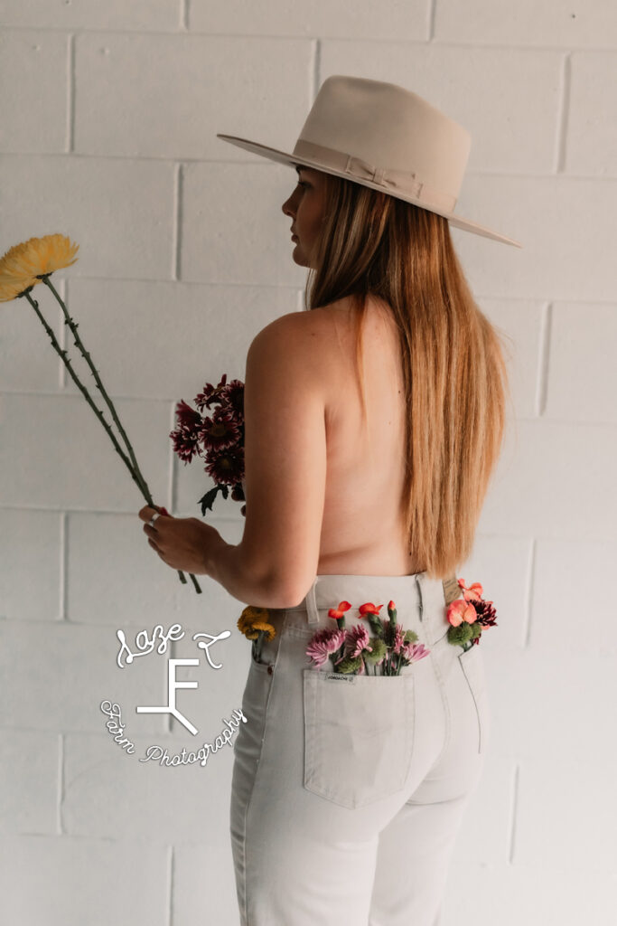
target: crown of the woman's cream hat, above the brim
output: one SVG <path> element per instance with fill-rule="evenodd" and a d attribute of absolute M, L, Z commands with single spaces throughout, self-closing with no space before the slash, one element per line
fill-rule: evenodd
<path fill-rule="evenodd" d="M 408 172 L 454 200 L 471 150 L 471 134 L 413 91 L 342 74 L 322 83 L 293 153 L 306 142 Z"/>

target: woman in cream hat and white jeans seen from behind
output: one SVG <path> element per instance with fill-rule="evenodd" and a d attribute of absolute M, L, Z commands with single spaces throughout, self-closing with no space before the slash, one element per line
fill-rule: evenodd
<path fill-rule="evenodd" d="M 247 356 L 241 544 L 197 519 L 144 530 L 169 566 L 267 609 L 234 745 L 241 923 L 434 926 L 490 727 L 478 639 L 451 643 L 447 606 L 507 387 L 449 220 L 518 243 L 453 216 L 468 133 L 395 84 L 328 78 L 291 154 L 221 137 L 298 172 L 282 211 L 306 311 Z M 308 657 L 343 611 L 367 643 L 360 607 L 388 620 L 386 602 L 426 658 L 385 675 L 368 645 L 357 672 Z"/>

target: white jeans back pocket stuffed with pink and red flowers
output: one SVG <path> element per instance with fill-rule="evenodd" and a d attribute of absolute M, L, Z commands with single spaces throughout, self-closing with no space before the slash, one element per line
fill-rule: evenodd
<path fill-rule="evenodd" d="M 341 807 L 365 807 L 401 790 L 413 751 L 413 672 L 303 669 L 303 707 L 308 791 Z"/>

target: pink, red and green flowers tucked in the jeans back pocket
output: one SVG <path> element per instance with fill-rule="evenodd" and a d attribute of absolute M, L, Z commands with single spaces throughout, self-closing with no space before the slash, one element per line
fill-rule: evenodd
<path fill-rule="evenodd" d="M 333 669 L 344 674 L 400 675 L 403 666 L 428 656 L 430 650 L 416 643 L 417 633 L 405 631 L 397 623 L 393 601 L 388 605 L 388 620 L 379 617 L 383 605 L 366 602 L 358 608 L 372 635 L 363 623 L 345 629 L 345 611 L 350 607 L 349 601 L 331 607 L 327 614 L 336 620 L 337 626 L 321 628 L 309 641 L 306 655 L 315 666 L 322 666 L 329 658 Z"/>

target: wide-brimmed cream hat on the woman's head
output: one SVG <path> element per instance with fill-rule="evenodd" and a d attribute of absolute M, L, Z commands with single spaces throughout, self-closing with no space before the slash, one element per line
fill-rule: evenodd
<path fill-rule="evenodd" d="M 279 164 L 324 170 L 437 212 L 465 232 L 523 247 L 485 225 L 454 215 L 471 135 L 418 94 L 396 83 L 335 74 L 315 96 L 293 151 L 236 135 L 229 144 Z"/>

